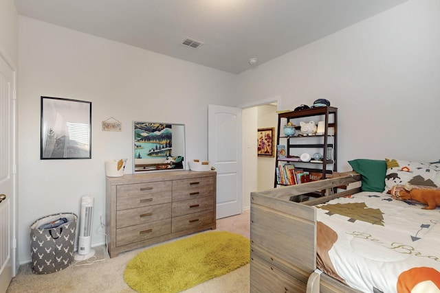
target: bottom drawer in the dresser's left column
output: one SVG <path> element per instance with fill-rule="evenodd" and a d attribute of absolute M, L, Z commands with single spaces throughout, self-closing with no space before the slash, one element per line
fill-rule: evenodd
<path fill-rule="evenodd" d="M 132 244 L 171 233 L 171 219 L 116 229 L 116 246 Z"/>

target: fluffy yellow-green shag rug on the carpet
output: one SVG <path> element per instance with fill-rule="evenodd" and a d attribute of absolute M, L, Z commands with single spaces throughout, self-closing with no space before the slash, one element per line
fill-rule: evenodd
<path fill-rule="evenodd" d="M 175 293 L 231 272 L 249 259 L 248 238 L 210 231 L 142 251 L 127 264 L 124 280 L 137 292 Z"/>

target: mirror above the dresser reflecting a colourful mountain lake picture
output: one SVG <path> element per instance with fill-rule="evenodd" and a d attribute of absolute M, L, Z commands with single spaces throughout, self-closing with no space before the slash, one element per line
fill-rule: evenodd
<path fill-rule="evenodd" d="M 133 173 L 185 169 L 185 125 L 133 121 Z"/>

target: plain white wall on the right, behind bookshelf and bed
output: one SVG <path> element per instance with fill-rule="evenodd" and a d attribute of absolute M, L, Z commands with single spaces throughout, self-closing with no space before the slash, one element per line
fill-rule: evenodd
<path fill-rule="evenodd" d="M 338 170 L 356 158 L 438 161 L 440 1 L 410 0 L 238 77 L 243 103 L 339 108 Z"/>

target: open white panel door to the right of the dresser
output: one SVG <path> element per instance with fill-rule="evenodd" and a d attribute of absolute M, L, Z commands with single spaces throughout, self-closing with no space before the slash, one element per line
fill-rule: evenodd
<path fill-rule="evenodd" d="M 208 160 L 217 171 L 217 219 L 243 211 L 241 109 L 208 105 Z"/>

